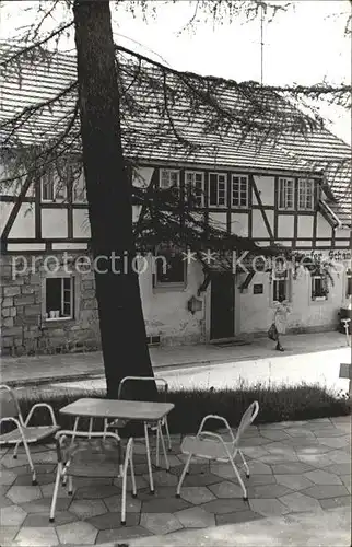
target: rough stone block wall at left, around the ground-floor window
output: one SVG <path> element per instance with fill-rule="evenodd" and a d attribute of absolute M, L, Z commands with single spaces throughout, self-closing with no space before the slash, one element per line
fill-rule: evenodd
<path fill-rule="evenodd" d="M 70 253 L 72 255 L 72 253 Z M 32 258 L 32 257 L 31 257 Z M 74 272 L 74 318 L 46 321 L 44 257 L 28 260 L 16 276 L 16 257 L 3 255 L 1 265 L 1 352 L 21 356 L 94 350 L 99 347 L 93 272 Z M 60 256 L 58 256 L 61 259 Z M 21 268 L 22 269 L 22 268 Z"/>

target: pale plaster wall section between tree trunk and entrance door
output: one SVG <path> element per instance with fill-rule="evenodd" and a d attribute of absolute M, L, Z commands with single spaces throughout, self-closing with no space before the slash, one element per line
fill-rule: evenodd
<path fill-rule="evenodd" d="M 197 298 L 197 290 L 203 276 L 201 266 L 188 266 L 185 289 L 153 288 L 152 268 L 139 276 L 143 314 L 148 336 L 160 336 L 162 344 L 196 344 L 201 341 L 204 321 L 204 305 L 200 312 L 191 314 L 187 301 Z M 203 302 L 203 296 L 199 296 Z"/>

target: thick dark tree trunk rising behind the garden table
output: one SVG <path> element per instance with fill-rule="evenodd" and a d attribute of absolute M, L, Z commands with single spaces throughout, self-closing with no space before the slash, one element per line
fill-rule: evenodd
<path fill-rule="evenodd" d="M 131 182 L 121 146 L 118 66 L 108 1 L 75 0 L 83 164 L 107 396 L 127 375 L 153 376 L 132 232 Z M 152 391 L 155 394 L 155 385 Z M 139 398 L 151 396 L 149 389 Z"/>

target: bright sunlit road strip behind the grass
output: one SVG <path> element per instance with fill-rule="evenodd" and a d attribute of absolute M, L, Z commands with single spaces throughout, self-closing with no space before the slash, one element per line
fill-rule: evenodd
<path fill-rule="evenodd" d="M 351 348 L 315 351 L 297 356 L 280 354 L 273 358 L 224 362 L 218 364 L 199 364 L 185 366 L 178 370 L 159 370 L 156 376 L 167 380 L 169 388 L 234 388 L 240 383 L 254 384 L 289 384 L 302 382 L 320 384 L 329 389 L 344 391 L 349 388 L 349 381 L 339 379 L 340 363 L 351 362 Z M 86 381 L 55 382 L 39 385 L 38 391 L 105 388 L 103 377 Z M 27 388 L 26 388 L 27 389 Z M 34 388 L 33 388 L 34 389 Z M 30 388 L 31 391 L 31 388 Z"/>

